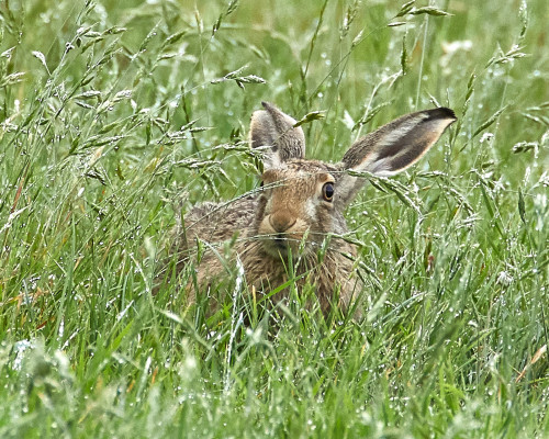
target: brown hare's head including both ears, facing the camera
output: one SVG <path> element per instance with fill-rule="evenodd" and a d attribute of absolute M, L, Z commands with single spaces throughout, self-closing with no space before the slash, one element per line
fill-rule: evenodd
<path fill-rule="evenodd" d="M 456 116 L 439 108 L 402 116 L 357 140 L 339 164 L 305 159 L 305 136 L 274 105 L 251 116 L 254 148 L 265 149 L 254 232 L 272 256 L 315 251 L 328 233 L 347 230 L 343 212 L 365 183 L 347 171 L 392 176 L 416 162 Z"/>

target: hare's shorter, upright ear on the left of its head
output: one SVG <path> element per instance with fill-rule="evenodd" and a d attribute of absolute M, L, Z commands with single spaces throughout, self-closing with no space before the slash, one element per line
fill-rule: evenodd
<path fill-rule="evenodd" d="M 305 135 L 294 128 L 295 120 L 268 102 L 251 115 L 249 136 L 253 148 L 266 148 L 265 167 L 273 168 L 291 158 L 305 157 Z"/>

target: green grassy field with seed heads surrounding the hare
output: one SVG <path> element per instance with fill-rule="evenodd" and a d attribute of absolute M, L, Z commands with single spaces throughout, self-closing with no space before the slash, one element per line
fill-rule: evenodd
<path fill-rule="evenodd" d="M 0 437 L 549 437 L 548 22 L 547 0 L 0 2 Z M 261 100 L 324 111 L 307 155 L 334 161 L 456 111 L 347 212 L 361 320 L 152 293 L 179 211 L 257 187 Z"/>

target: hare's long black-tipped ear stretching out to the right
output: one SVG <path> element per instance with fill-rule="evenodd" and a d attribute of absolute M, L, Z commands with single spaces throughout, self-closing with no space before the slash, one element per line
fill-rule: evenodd
<path fill-rule="evenodd" d="M 446 108 L 406 114 L 358 139 L 345 154 L 341 167 L 394 176 L 419 160 L 453 121 L 456 114 Z M 343 190 L 349 202 L 363 183 L 363 179 L 346 175 L 338 192 Z"/>

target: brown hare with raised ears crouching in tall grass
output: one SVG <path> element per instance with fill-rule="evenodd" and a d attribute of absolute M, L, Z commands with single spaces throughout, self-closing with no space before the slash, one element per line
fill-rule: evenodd
<path fill-rule="evenodd" d="M 346 206 L 365 184 L 348 171 L 393 176 L 416 162 L 456 121 L 452 110 L 438 108 L 411 113 L 360 138 L 338 164 L 305 159 L 305 136 L 295 120 L 262 102 L 254 112 L 249 136 L 253 148 L 265 150 L 261 185 L 231 203 L 203 203 L 183 218 L 177 264 L 190 262 L 197 239 L 205 243 L 195 261 L 194 283 L 187 290 L 204 292 L 229 267 L 243 269 L 250 291 L 279 301 L 288 285 L 313 285 L 324 314 L 334 304 L 343 312 L 362 291 L 354 273 L 357 248 L 341 238 L 348 233 Z M 221 243 L 232 240 L 228 258 Z M 197 254 L 194 251 L 194 254 Z M 192 282 L 191 282 L 192 283 Z M 222 292 L 222 295 L 224 293 Z M 227 294 L 227 292 L 225 292 Z"/>

